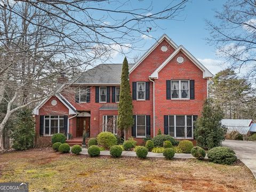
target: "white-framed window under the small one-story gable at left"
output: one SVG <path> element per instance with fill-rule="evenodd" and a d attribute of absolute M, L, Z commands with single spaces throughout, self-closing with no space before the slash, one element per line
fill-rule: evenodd
<path fill-rule="evenodd" d="M 45 115 L 44 116 L 44 135 L 51 136 L 55 133 L 63 133 L 64 116 L 63 115 Z"/>

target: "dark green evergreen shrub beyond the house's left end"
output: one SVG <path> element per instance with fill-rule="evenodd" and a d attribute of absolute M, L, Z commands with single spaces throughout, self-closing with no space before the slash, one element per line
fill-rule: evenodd
<path fill-rule="evenodd" d="M 25 150 L 34 147 L 35 124 L 31 110 L 23 108 L 17 114 L 14 126 L 12 127 L 12 147 L 16 150 Z"/>

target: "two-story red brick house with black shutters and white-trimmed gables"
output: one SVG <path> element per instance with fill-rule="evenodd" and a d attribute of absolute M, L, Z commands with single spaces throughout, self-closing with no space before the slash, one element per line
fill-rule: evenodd
<path fill-rule="evenodd" d="M 74 79 L 69 90 L 63 88 L 39 103 L 34 109 L 36 133 L 70 133 L 73 138 L 81 138 L 83 130 L 90 137 L 102 131 L 116 134 L 121 71 L 122 64 L 98 65 Z M 134 125 L 125 137 L 140 142 L 161 129 L 174 138 L 192 140 L 193 121 L 207 98 L 211 72 L 167 35 L 130 64 L 129 72 Z"/>

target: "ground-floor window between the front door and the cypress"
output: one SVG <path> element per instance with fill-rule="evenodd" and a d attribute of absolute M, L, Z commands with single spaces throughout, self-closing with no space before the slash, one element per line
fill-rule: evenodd
<path fill-rule="evenodd" d="M 102 132 L 117 134 L 117 115 L 103 115 Z"/>

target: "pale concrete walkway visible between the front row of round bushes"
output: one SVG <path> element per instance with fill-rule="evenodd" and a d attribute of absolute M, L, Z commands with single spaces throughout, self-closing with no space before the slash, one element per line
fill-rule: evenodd
<path fill-rule="evenodd" d="M 87 155 L 87 149 L 82 149 L 81 154 Z M 100 151 L 100 155 L 110 155 L 108 150 Z M 136 157 L 135 151 L 123 151 L 122 156 L 126 157 Z M 163 154 L 156 154 L 152 152 L 148 152 L 147 157 L 151 158 L 164 158 Z M 174 158 L 194 158 L 191 154 L 175 154 Z"/>

